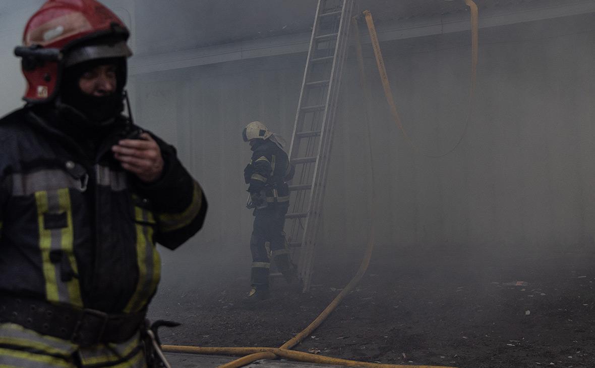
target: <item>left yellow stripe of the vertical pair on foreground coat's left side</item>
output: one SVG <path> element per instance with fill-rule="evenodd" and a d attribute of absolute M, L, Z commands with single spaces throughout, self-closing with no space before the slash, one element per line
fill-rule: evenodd
<path fill-rule="evenodd" d="M 52 247 L 52 232 L 43 226 L 43 214 L 48 212 L 48 192 L 35 192 L 37 204 L 37 225 L 39 226 L 39 248 L 41 250 L 43 277 L 45 279 L 45 293 L 49 301 L 59 301 L 58 284 L 56 282 L 56 267 L 49 260 Z"/>

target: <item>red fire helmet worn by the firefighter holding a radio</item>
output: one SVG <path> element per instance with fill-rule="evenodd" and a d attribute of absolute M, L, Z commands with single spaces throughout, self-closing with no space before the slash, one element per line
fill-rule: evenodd
<path fill-rule="evenodd" d="M 27 80 L 23 99 L 37 103 L 54 98 L 64 67 L 129 57 L 128 37 L 123 21 L 98 1 L 46 1 L 27 22 L 23 46 L 14 49 Z"/>

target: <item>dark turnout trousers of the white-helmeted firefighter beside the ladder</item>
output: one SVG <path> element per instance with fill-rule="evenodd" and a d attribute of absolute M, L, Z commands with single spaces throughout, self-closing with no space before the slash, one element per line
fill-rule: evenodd
<path fill-rule="evenodd" d="M 257 208 L 253 212 L 254 227 L 250 238 L 252 286 L 268 285 L 271 259 L 283 275 L 290 272 L 289 249 L 283 236 L 287 208 L 289 202 L 270 202 L 267 207 Z"/>

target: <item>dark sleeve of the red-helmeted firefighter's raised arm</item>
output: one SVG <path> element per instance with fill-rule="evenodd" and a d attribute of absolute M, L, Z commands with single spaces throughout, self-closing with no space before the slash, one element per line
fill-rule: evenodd
<path fill-rule="evenodd" d="M 151 201 L 156 214 L 155 241 L 175 249 L 201 229 L 206 216 L 206 198 L 176 156 L 176 149 L 152 135 L 164 160 L 161 177 L 153 183 L 137 180 L 136 187 Z"/>

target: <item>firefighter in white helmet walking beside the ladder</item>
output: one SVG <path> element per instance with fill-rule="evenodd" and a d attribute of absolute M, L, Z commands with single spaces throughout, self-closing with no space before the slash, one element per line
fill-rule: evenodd
<path fill-rule="evenodd" d="M 289 250 L 283 235 L 285 214 L 289 208 L 289 187 L 294 168 L 283 151 L 283 139 L 273 134 L 260 121 L 252 121 L 243 130 L 244 142 L 250 143 L 252 159 L 244 169 L 250 198 L 248 208 L 254 208 L 254 227 L 250 238 L 252 252 L 252 289 L 249 300 L 269 297 L 271 258 L 287 282 L 296 279 Z"/>

